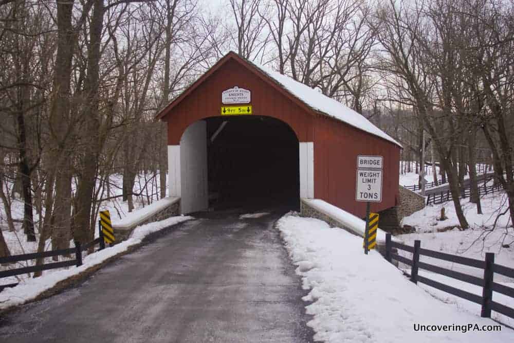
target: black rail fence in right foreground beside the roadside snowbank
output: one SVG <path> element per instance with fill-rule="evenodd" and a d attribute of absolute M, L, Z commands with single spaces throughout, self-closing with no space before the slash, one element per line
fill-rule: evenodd
<path fill-rule="evenodd" d="M 393 248 L 408 251 L 412 253 L 412 259 L 403 257 L 393 251 Z M 450 261 L 458 264 L 463 264 L 470 267 L 483 269 L 484 277 L 479 278 L 476 276 L 468 275 L 465 273 L 455 272 L 455 270 L 439 267 L 433 264 L 425 262 L 419 262 L 420 256 L 428 256 L 431 258 Z M 509 308 L 501 303 L 492 300 L 493 292 L 504 294 L 508 297 L 514 298 L 514 288 L 504 286 L 502 284 L 494 282 L 494 274 L 500 274 L 509 278 L 514 278 L 514 269 L 505 267 L 500 264 L 494 263 L 494 254 L 487 252 L 485 260 L 470 259 L 462 256 L 455 256 L 446 254 L 445 252 L 428 250 L 421 248 L 421 241 L 414 241 L 414 246 L 409 246 L 401 243 L 397 243 L 391 240 L 391 233 L 386 234 L 386 259 L 389 262 L 396 260 L 401 263 L 405 263 L 411 266 L 411 273 L 405 273 L 410 277 L 410 280 L 414 283 L 421 282 L 431 287 L 437 288 L 443 292 L 453 294 L 457 297 L 478 303 L 482 305 L 482 317 L 491 317 L 491 310 L 501 313 L 507 317 L 514 318 L 514 309 Z M 458 288 L 440 283 L 429 278 L 418 275 L 418 270 L 424 269 L 430 272 L 444 275 L 456 280 L 464 281 L 467 283 L 474 284 L 482 287 L 482 296 L 469 293 Z"/>

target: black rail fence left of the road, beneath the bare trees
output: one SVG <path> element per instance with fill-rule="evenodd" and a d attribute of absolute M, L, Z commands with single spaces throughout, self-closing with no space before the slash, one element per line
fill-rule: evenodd
<path fill-rule="evenodd" d="M 2 257 L 2 258 L 0 258 L 0 264 L 34 260 L 34 259 L 43 258 L 43 257 L 54 257 L 54 256 L 75 254 L 74 260 L 68 260 L 68 261 L 62 261 L 62 262 L 52 262 L 52 263 L 46 263 L 46 264 L 42 264 L 42 265 L 33 265 L 33 266 L 28 266 L 28 267 L 16 268 L 16 269 L 2 270 L 2 271 L 0 271 L 0 278 L 6 278 L 9 276 L 21 275 L 21 274 L 25 274 L 25 273 L 41 272 L 43 270 L 48 270 L 48 269 L 69 267 L 72 265 L 75 265 L 77 267 L 81 266 L 82 265 L 82 251 L 87 250 L 90 247 L 94 247 L 97 244 L 100 245 L 99 250 L 102 250 L 105 248 L 105 243 L 103 240 L 103 236 L 101 234 L 101 230 L 100 230 L 100 237 L 98 237 L 97 239 L 95 239 L 89 243 L 86 243 L 84 245 L 80 244 L 79 242 L 75 242 L 74 248 L 49 250 L 49 251 L 43 251 L 43 252 L 34 252 L 33 254 L 23 254 L 23 255 L 14 255 L 14 256 L 9 256 L 9 257 Z M 17 283 L 9 283 L 9 284 L 0 285 L 0 292 L 2 292 L 4 290 L 4 288 L 6 288 L 6 287 L 14 287 L 16 285 L 17 285 Z"/>

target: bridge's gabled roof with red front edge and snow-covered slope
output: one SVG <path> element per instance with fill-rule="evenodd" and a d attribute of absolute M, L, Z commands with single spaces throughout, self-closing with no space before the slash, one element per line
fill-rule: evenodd
<path fill-rule="evenodd" d="M 395 139 L 377 128 L 371 121 L 364 118 L 364 116 L 343 105 L 339 101 L 329 98 L 318 92 L 316 89 L 310 88 L 301 82 L 295 81 L 288 76 L 278 73 L 277 71 L 273 71 L 267 67 L 250 62 L 240 57 L 233 51 L 227 53 L 227 55 L 225 55 L 214 66 L 212 66 L 204 75 L 202 75 L 184 92 L 182 92 L 182 94 L 180 94 L 175 100 L 160 110 L 156 118 L 162 119 L 165 117 L 171 111 L 171 109 L 173 109 L 173 107 L 182 101 L 183 98 L 191 94 L 191 92 L 193 92 L 196 87 L 198 87 L 212 73 L 214 73 L 214 71 L 219 69 L 222 65 L 231 59 L 243 65 L 253 74 L 275 88 L 278 92 L 282 93 L 284 96 L 297 103 L 300 107 L 303 107 L 303 109 L 307 110 L 307 112 L 332 117 L 348 125 L 351 125 L 356 129 L 388 140 L 401 148 L 400 143 L 398 143 Z"/>

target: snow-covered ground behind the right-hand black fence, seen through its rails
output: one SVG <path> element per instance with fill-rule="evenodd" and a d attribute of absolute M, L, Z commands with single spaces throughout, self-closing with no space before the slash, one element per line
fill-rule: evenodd
<path fill-rule="evenodd" d="M 488 194 L 481 198 L 483 214 L 476 213 L 476 205 L 469 202 L 469 199 L 462 199 L 461 204 L 464 214 L 470 225 L 467 230 L 460 230 L 453 203 L 445 203 L 434 206 L 427 206 L 404 218 L 402 224 L 411 225 L 416 232 L 396 236 L 407 245 L 413 245 L 414 240 L 421 241 L 421 247 L 447 252 L 448 254 L 484 260 L 486 252 L 494 252 L 494 262 L 504 266 L 514 266 L 514 229 L 510 226 L 508 214 L 501 216 L 497 227 L 492 230 L 494 220 L 499 212 L 508 208 L 508 201 L 505 193 Z M 440 209 L 445 207 L 447 220 L 440 221 Z M 453 228 L 452 228 L 453 227 Z M 444 232 L 438 232 L 446 230 Z M 409 252 L 401 251 L 400 254 L 412 258 Z M 421 256 L 421 261 L 438 265 L 444 268 L 456 270 L 461 273 L 483 277 L 481 269 L 464 266 L 462 264 L 446 262 Z M 409 270 L 409 267 L 400 264 L 400 267 Z M 462 281 L 454 280 L 442 275 L 420 271 L 420 275 L 429 279 L 439 281 L 456 288 L 460 288 L 476 295 L 482 295 L 482 288 Z M 500 274 L 494 275 L 494 280 L 514 288 L 514 280 Z M 436 290 L 427 285 L 420 284 L 428 292 L 445 302 L 454 303 L 459 308 L 466 309 L 473 313 L 480 313 L 480 305 L 473 302 L 452 296 L 448 293 Z M 514 299 L 502 294 L 493 293 L 493 300 L 500 302 L 510 308 L 514 308 Z M 514 319 L 492 312 L 492 318 L 514 326 Z"/>

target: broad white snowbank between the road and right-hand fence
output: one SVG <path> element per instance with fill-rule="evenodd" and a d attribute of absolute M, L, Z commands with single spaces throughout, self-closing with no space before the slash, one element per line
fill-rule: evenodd
<path fill-rule="evenodd" d="M 416 331 L 416 326 L 498 324 L 444 303 L 408 281 L 376 251 L 364 255 L 362 238 L 325 222 L 286 215 L 277 223 L 298 266 L 308 322 L 326 342 L 509 342 L 514 331 Z M 453 325 L 453 327 L 452 327 Z M 463 332 L 466 331 L 466 332 Z"/>

